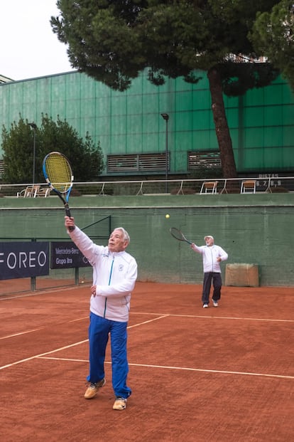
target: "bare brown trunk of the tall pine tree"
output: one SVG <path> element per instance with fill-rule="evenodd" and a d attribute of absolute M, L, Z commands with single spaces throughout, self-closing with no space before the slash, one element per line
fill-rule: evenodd
<path fill-rule="evenodd" d="M 222 173 L 224 178 L 236 178 L 236 164 L 229 133 L 226 112 L 224 110 L 224 98 L 222 95 L 222 81 L 217 68 L 209 69 L 207 73 L 209 90 L 212 96 L 212 114 L 214 118 L 215 132 L 219 144 Z"/>

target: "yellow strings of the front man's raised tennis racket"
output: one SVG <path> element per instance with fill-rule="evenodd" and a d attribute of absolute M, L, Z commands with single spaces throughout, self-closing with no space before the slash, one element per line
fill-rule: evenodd
<path fill-rule="evenodd" d="M 64 193 L 72 184 L 72 171 L 67 159 L 62 155 L 52 154 L 45 161 L 45 169 L 52 186 Z"/>

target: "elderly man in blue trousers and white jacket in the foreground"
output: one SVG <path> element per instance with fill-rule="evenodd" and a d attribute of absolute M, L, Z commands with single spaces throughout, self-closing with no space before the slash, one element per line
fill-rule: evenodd
<path fill-rule="evenodd" d="M 104 359 L 110 335 L 112 386 L 116 396 L 113 409 L 124 410 L 126 399 L 131 395 L 131 389 L 126 385 L 129 372 L 126 328 L 131 292 L 137 278 L 136 260 L 126 252 L 130 242 L 129 233 L 123 227 L 115 228 L 105 247 L 93 243 L 75 226 L 73 218 L 65 216 L 65 227 L 93 268 L 89 316 L 89 386 L 85 399 L 94 398 L 105 384 Z"/>

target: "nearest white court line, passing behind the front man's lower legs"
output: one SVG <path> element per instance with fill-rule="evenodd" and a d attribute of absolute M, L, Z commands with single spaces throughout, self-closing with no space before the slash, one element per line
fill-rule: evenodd
<path fill-rule="evenodd" d="M 38 359 L 50 359 L 55 361 L 68 361 L 68 362 L 89 362 L 85 359 L 68 359 L 68 358 L 59 358 L 59 357 L 39 357 Z M 111 362 L 107 361 L 105 364 L 111 364 Z M 195 369 L 188 367 L 172 367 L 169 365 L 152 365 L 152 364 L 132 364 L 129 362 L 129 365 L 132 367 L 147 367 L 147 368 L 158 368 L 158 369 L 169 369 L 169 370 L 180 370 L 186 372 L 203 372 L 203 373 L 219 373 L 219 374 L 239 374 L 242 376 L 259 376 L 259 377 L 278 377 L 279 379 L 294 379 L 294 376 L 286 376 L 283 374 L 265 374 L 265 373 L 251 373 L 251 372 L 230 372 L 227 370 L 209 370 L 209 369 Z"/>

